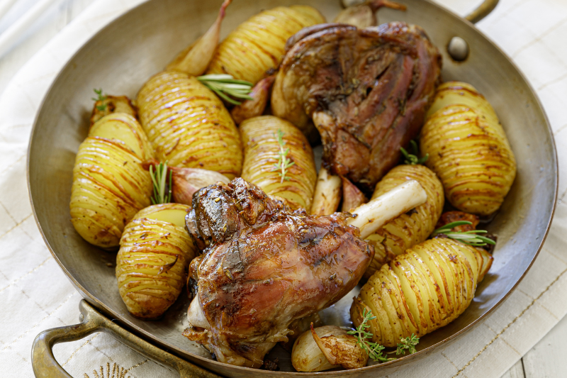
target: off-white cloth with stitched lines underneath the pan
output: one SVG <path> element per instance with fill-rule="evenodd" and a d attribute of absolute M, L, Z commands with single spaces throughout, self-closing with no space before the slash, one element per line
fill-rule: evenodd
<path fill-rule="evenodd" d="M 77 48 L 141 2 L 95 1 L 22 67 L 0 97 L 2 377 L 33 377 L 35 335 L 78 323 L 79 316 L 81 296 L 45 247 L 28 201 L 26 150 L 35 112 Z M 460 14 L 476 5 L 439 2 Z M 389 377 L 500 377 L 567 313 L 567 1 L 501 0 L 478 28 L 526 74 L 551 121 L 561 171 L 554 223 L 534 266 L 502 306 L 444 350 Z M 73 377 L 107 377 L 107 372 L 108 377 L 176 377 L 100 333 L 57 345 L 55 355 Z"/>

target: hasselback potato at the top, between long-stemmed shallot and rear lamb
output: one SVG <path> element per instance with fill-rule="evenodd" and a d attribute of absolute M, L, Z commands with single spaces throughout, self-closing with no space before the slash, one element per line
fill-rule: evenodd
<path fill-rule="evenodd" d="M 208 74 L 231 74 L 256 84 L 278 67 L 291 35 L 325 18 L 311 6 L 278 6 L 243 22 L 218 45 Z"/>

